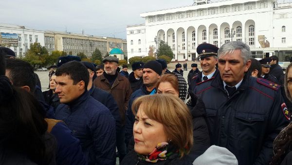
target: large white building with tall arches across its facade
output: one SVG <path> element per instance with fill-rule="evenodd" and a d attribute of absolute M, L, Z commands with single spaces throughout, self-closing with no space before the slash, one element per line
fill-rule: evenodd
<path fill-rule="evenodd" d="M 220 47 L 228 41 L 242 41 L 250 46 L 254 58 L 277 55 L 279 61 L 289 61 L 292 56 L 292 3 L 197 0 L 191 6 L 140 16 L 145 24 L 127 26 L 128 59 L 148 56 L 149 46 L 157 47 L 155 37 L 172 48 L 173 61 L 197 58 L 196 48 L 203 42 Z"/>

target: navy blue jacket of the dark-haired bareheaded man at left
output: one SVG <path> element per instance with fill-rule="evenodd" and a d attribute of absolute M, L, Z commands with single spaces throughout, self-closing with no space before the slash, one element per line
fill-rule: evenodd
<path fill-rule="evenodd" d="M 55 116 L 80 140 L 89 165 L 115 165 L 115 120 L 105 105 L 85 91 L 73 102 L 60 104 Z"/>

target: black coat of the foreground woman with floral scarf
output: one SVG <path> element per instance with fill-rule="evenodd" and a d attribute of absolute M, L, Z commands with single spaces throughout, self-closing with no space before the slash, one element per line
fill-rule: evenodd
<path fill-rule="evenodd" d="M 131 150 L 124 157 L 120 165 L 193 165 L 193 162 L 190 162 L 188 159 L 185 159 L 185 157 L 183 157 L 182 159 L 167 159 L 164 161 L 159 161 L 157 163 L 151 163 L 139 160 L 137 153 L 134 150 Z"/>

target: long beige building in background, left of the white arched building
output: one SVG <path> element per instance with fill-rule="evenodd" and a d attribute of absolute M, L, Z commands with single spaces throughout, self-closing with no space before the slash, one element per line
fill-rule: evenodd
<path fill-rule="evenodd" d="M 120 48 L 127 52 L 127 40 L 93 35 L 47 31 L 45 33 L 45 47 L 51 53 L 54 50 L 65 51 L 67 54 L 77 55 L 83 52 L 91 58 L 95 48 L 105 56 L 113 48 Z"/>

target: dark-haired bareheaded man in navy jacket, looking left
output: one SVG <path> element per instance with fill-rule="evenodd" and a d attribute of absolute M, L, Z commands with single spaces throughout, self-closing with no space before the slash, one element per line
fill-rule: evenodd
<path fill-rule="evenodd" d="M 110 110 L 93 99 L 88 91 L 89 73 L 80 62 L 67 62 L 56 69 L 60 105 L 56 119 L 64 121 L 80 140 L 89 165 L 114 165 L 115 120 Z"/>

